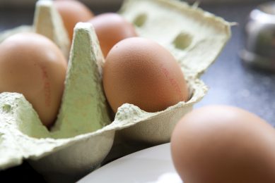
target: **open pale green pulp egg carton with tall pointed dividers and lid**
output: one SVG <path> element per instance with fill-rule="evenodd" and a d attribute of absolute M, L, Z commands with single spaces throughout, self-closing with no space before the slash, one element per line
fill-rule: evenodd
<path fill-rule="evenodd" d="M 230 37 L 230 23 L 196 5 L 176 0 L 127 0 L 119 13 L 139 36 L 165 46 L 177 59 L 189 86 L 189 100 L 164 111 L 147 113 L 124 103 L 115 118 L 105 99 L 105 59 L 89 23 L 78 23 L 73 42 L 52 1 L 37 1 L 33 26 L 0 34 L 0 42 L 16 32 L 37 32 L 52 39 L 69 59 L 57 121 L 42 125 L 22 94 L 0 94 L 0 169 L 30 165 L 49 182 L 79 177 L 127 153 L 170 141 L 173 127 L 207 92 L 199 80 Z"/>

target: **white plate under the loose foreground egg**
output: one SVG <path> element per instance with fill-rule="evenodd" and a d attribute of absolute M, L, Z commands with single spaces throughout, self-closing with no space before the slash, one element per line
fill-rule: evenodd
<path fill-rule="evenodd" d="M 131 153 L 91 172 L 78 183 L 182 183 L 172 164 L 170 144 Z"/>

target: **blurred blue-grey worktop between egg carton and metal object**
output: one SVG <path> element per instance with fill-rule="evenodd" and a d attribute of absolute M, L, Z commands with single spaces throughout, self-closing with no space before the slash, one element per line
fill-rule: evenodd
<path fill-rule="evenodd" d="M 207 104 L 228 104 L 245 108 L 275 126 L 275 74 L 247 67 L 239 53 L 245 44 L 245 23 L 256 4 L 204 6 L 229 22 L 232 37 L 215 63 L 202 75 L 209 93 L 196 107 Z"/>

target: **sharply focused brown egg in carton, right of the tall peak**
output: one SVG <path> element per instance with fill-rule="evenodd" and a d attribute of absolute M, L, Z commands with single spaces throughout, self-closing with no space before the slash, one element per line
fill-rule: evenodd
<path fill-rule="evenodd" d="M 141 37 L 124 39 L 110 50 L 103 87 L 115 112 L 123 103 L 156 112 L 188 99 L 185 78 L 172 54 Z"/>

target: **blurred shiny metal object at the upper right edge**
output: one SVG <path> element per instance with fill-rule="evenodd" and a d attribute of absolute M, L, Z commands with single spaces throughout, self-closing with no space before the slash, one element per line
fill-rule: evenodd
<path fill-rule="evenodd" d="M 246 34 L 242 60 L 256 68 L 275 71 L 275 1 L 260 4 L 250 12 Z"/>

